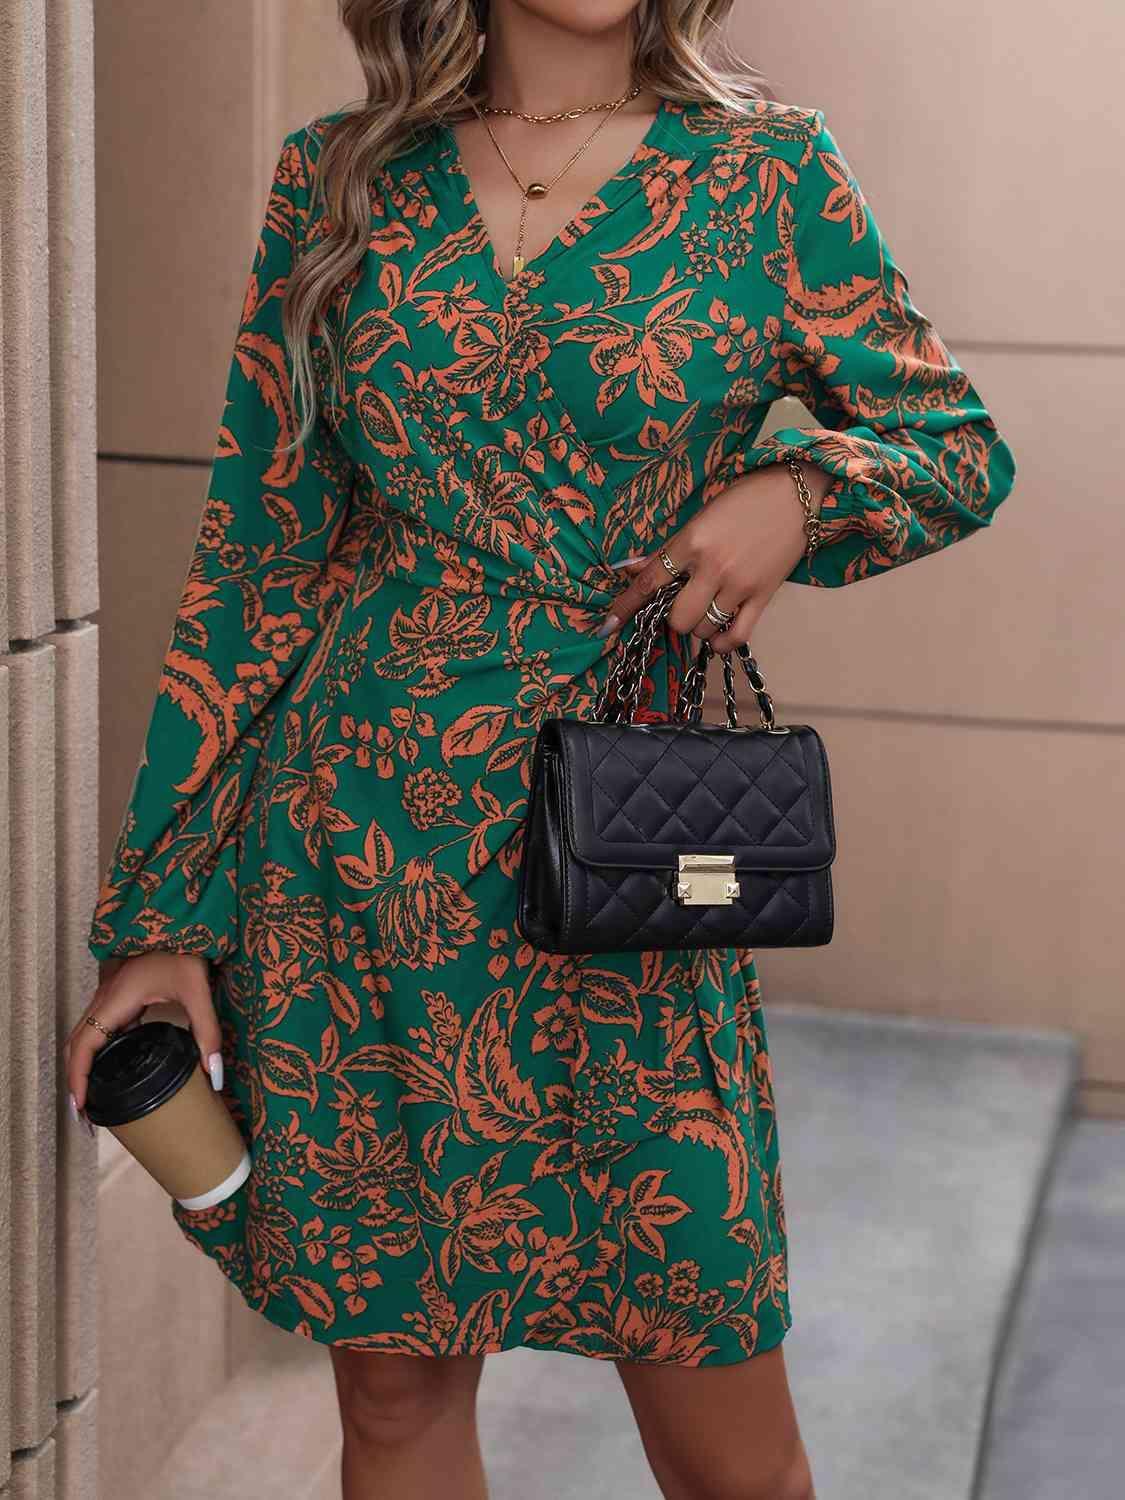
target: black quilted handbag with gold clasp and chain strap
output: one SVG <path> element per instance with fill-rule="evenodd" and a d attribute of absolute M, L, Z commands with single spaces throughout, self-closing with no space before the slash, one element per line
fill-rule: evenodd
<path fill-rule="evenodd" d="M 676 579 L 634 616 L 590 718 L 544 718 L 531 764 L 516 926 L 548 952 L 812 948 L 832 936 L 828 759 L 808 724 L 776 724 L 750 650 L 735 650 L 760 724 L 702 723 L 700 642 L 676 717 L 634 723 Z"/>

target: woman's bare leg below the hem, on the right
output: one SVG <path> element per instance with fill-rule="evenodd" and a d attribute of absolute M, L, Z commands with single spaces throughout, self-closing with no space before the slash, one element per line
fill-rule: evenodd
<path fill-rule="evenodd" d="M 780 1346 L 734 1365 L 615 1364 L 664 1500 L 816 1500 Z"/>

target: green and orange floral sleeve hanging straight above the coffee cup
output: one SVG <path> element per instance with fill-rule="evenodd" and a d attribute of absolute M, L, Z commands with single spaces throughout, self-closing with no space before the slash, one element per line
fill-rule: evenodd
<path fill-rule="evenodd" d="M 272 705 L 354 572 L 340 548 L 354 464 L 324 405 L 285 452 L 297 414 L 280 294 L 309 231 L 315 141 L 292 132 L 278 160 L 188 576 L 90 926 L 98 958 L 234 948 L 238 820 Z"/>

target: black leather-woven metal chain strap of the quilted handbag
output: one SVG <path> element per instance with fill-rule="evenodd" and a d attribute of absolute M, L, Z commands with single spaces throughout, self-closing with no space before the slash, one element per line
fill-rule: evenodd
<path fill-rule="evenodd" d="M 633 616 L 633 633 L 621 645 L 609 664 L 606 681 L 594 704 L 594 720 L 600 723 L 632 723 L 640 698 L 640 682 L 648 666 L 648 658 L 656 645 L 657 630 L 664 621 L 672 600 L 684 586 L 684 579 L 670 579 L 658 588 L 652 597 L 640 606 Z M 706 690 L 706 664 L 712 656 L 718 656 L 723 663 L 723 698 L 726 700 L 728 729 L 738 729 L 738 704 L 735 700 L 735 672 L 729 651 L 716 652 L 710 640 L 699 642 L 694 660 L 684 672 L 684 681 L 676 704 L 675 718 L 681 723 L 699 723 L 704 714 L 704 692 Z M 774 700 L 765 687 L 762 672 L 750 654 L 750 646 L 735 646 L 746 680 L 758 699 L 758 712 L 762 729 L 777 729 L 774 723 Z"/>

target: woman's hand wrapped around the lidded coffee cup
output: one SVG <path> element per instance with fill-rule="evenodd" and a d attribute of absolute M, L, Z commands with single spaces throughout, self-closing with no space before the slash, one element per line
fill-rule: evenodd
<path fill-rule="evenodd" d="M 75 1119 L 86 1108 L 94 1053 L 110 1041 L 105 1032 L 87 1024 L 87 1017 L 93 1016 L 106 1030 L 120 1032 L 135 1024 L 148 1005 L 160 1000 L 176 1000 L 183 1006 L 212 1086 L 222 1088 L 222 1032 L 212 1000 L 207 958 L 166 950 L 138 952 L 102 980 L 63 1044 L 70 1114 Z"/>

